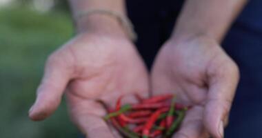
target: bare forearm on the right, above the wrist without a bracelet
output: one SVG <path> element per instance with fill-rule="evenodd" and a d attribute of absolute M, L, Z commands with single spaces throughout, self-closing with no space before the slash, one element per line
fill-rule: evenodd
<path fill-rule="evenodd" d="M 188 0 L 174 28 L 173 37 L 207 35 L 221 41 L 247 0 Z"/>

